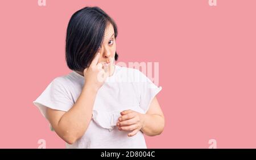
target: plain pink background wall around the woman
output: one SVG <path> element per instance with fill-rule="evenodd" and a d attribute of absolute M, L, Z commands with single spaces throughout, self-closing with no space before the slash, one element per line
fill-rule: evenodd
<path fill-rule="evenodd" d="M 256 1 L 1 1 L 0 148 L 65 148 L 32 104 L 65 63 L 73 12 L 99 6 L 116 21 L 122 62 L 159 62 L 166 117 L 148 148 L 256 148 Z"/>

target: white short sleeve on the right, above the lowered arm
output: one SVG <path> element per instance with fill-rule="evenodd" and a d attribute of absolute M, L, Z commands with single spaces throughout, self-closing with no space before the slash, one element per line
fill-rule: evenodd
<path fill-rule="evenodd" d="M 160 90 L 162 90 L 162 87 L 158 87 L 141 71 L 139 72 L 139 105 L 143 109 L 144 113 L 146 113 L 150 107 L 151 101 L 156 96 L 156 94 L 158 94 Z"/>

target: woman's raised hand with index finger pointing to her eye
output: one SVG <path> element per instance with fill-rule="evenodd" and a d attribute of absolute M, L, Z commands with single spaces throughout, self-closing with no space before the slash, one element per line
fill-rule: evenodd
<path fill-rule="evenodd" d="M 90 63 L 90 66 L 84 69 L 84 86 L 92 87 L 92 89 L 96 91 L 101 88 L 108 77 L 107 68 L 102 68 L 102 64 L 98 63 L 99 58 L 100 53 L 97 53 L 93 58 L 92 63 Z"/>

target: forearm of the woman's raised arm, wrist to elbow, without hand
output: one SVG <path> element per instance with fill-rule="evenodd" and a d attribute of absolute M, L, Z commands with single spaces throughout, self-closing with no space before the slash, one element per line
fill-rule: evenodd
<path fill-rule="evenodd" d="M 82 89 L 76 103 L 61 117 L 57 124 L 57 128 L 60 130 L 59 136 L 73 143 L 84 135 L 92 119 L 96 94 L 96 90 L 90 89 L 90 87 L 84 87 Z"/>

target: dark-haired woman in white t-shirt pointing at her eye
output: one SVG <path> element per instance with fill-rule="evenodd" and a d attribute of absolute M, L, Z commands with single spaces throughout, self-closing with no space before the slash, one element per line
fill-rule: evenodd
<path fill-rule="evenodd" d="M 117 27 L 99 7 L 72 15 L 66 38 L 71 73 L 34 101 L 67 148 L 147 148 L 143 133 L 162 133 L 162 89 L 142 72 L 115 65 Z"/>

